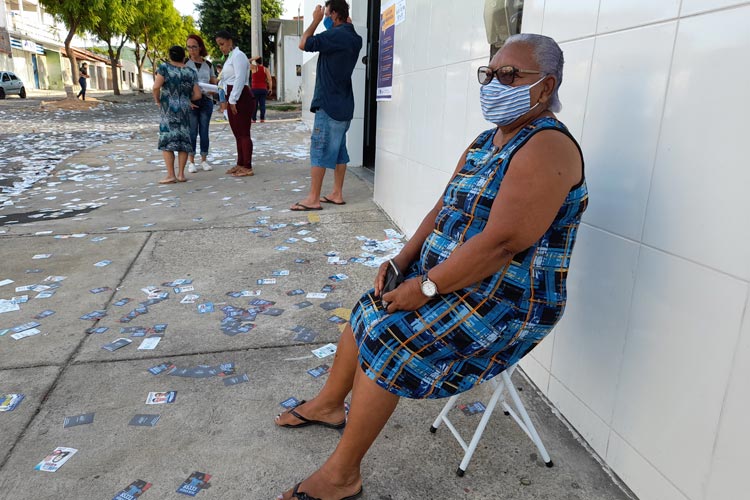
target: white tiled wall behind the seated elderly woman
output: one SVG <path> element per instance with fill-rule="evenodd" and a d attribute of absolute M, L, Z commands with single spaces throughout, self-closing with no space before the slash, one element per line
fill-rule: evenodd
<path fill-rule="evenodd" d="M 375 201 L 410 234 L 488 128 L 489 50 L 483 1 L 406 3 Z M 525 1 L 565 52 L 591 199 L 565 316 L 522 366 L 641 500 L 748 498 L 748 26 L 748 1 Z"/>

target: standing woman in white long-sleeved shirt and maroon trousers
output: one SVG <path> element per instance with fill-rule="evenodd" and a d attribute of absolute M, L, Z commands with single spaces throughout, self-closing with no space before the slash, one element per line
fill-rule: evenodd
<path fill-rule="evenodd" d="M 216 33 L 216 44 L 226 56 L 221 70 L 221 81 L 226 85 L 229 126 L 237 142 L 237 165 L 227 170 L 233 177 L 251 176 L 253 172 L 253 140 L 250 137 L 250 120 L 255 112 L 255 98 L 247 85 L 250 63 L 247 56 L 234 43 L 227 30 Z"/>

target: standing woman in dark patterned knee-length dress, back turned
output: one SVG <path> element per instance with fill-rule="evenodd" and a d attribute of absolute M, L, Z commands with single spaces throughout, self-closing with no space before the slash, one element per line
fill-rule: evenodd
<path fill-rule="evenodd" d="M 193 151 L 190 141 L 190 101 L 200 99 L 198 75 L 185 67 L 185 49 L 179 45 L 170 47 L 169 62 L 156 70 L 153 95 L 156 105 L 161 107 L 159 123 L 159 149 L 164 156 L 167 177 L 159 184 L 185 182 L 185 164 L 188 153 Z M 178 154 L 179 172 L 175 176 L 174 154 Z"/>

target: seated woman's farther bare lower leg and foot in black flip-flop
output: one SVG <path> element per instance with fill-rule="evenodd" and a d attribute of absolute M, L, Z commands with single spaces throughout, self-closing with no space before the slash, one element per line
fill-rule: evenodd
<path fill-rule="evenodd" d="M 357 343 L 351 325 L 347 324 L 339 338 L 328 380 L 315 398 L 295 408 L 305 418 L 338 424 L 346 418 L 344 400 L 354 384 L 357 371 Z M 297 425 L 301 421 L 291 413 L 276 417 L 276 425 Z"/>

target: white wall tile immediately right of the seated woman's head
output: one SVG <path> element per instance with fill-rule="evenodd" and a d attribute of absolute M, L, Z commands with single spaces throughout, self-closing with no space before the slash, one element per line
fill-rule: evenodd
<path fill-rule="evenodd" d="M 596 194 L 586 220 L 626 238 L 643 232 L 676 29 L 672 21 L 596 38 L 581 141 Z M 641 43 L 649 50 L 631 50 Z"/>

